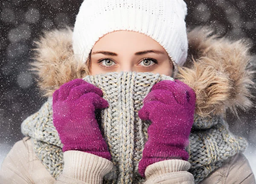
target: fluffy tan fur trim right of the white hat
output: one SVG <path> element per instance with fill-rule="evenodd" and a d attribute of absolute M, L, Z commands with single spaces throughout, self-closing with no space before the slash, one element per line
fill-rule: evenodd
<path fill-rule="evenodd" d="M 192 57 L 187 67 L 179 67 L 177 78 L 195 90 L 196 114 L 219 115 L 230 109 L 237 115 L 238 108 L 252 106 L 249 46 L 211 34 L 207 27 L 189 32 L 189 49 L 198 59 Z"/>

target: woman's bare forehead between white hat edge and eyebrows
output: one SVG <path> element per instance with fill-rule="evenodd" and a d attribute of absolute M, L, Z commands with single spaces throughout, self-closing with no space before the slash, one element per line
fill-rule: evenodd
<path fill-rule="evenodd" d="M 151 37 L 133 31 L 115 31 L 104 35 L 93 46 L 93 50 L 138 50 L 158 49 L 164 51 L 163 47 Z"/>

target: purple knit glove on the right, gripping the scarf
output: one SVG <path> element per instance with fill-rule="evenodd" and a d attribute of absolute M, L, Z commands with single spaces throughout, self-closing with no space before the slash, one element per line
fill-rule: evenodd
<path fill-rule="evenodd" d="M 146 167 L 155 162 L 188 160 L 189 144 L 195 112 L 195 92 L 179 80 L 156 83 L 145 97 L 139 117 L 150 120 L 139 173 L 145 177 Z"/>

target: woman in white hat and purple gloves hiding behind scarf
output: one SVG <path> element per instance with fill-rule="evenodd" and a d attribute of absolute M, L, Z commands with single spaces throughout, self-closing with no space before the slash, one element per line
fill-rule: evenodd
<path fill-rule="evenodd" d="M 23 122 L 1 182 L 255 183 L 223 117 L 251 104 L 248 48 L 195 29 L 190 62 L 185 16 L 182 0 L 85 0 L 74 32 L 47 33 L 33 65 L 49 99 Z"/>

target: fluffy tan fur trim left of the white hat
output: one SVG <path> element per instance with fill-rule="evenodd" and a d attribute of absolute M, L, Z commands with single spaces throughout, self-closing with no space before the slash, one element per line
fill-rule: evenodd
<path fill-rule="evenodd" d="M 51 96 L 62 84 L 89 74 L 84 63 L 75 61 L 71 29 L 47 32 L 35 43 L 36 62 L 30 63 L 33 66 L 30 70 L 38 75 L 36 80 L 44 96 Z"/>

